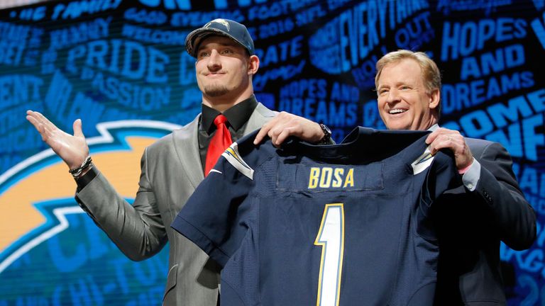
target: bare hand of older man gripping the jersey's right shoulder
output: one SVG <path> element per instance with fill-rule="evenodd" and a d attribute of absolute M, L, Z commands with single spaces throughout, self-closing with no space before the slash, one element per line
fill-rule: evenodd
<path fill-rule="evenodd" d="M 428 135 L 426 144 L 429 145 L 431 154 L 436 154 L 440 149 L 450 149 L 454 153 L 458 170 L 466 169 L 473 163 L 473 154 L 466 139 L 457 130 L 438 128 Z"/>

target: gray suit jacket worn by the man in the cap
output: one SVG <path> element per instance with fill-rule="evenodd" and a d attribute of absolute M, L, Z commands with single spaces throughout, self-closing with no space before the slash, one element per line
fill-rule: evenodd
<path fill-rule="evenodd" d="M 244 135 L 274 116 L 275 112 L 259 103 Z M 218 297 L 216 263 L 170 227 L 204 179 L 197 139 L 199 117 L 145 149 L 133 205 L 100 173 L 76 194 L 82 208 L 130 259 L 147 259 L 170 242 L 163 305 L 215 306 Z"/>

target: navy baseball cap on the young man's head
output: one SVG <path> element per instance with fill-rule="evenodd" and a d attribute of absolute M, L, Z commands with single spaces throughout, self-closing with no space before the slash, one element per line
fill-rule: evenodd
<path fill-rule="evenodd" d="M 239 45 L 243 46 L 250 55 L 255 54 L 255 49 L 253 47 L 253 40 L 248 33 L 248 29 L 241 23 L 232 21 L 229 19 L 214 19 L 209 23 L 205 24 L 202 28 L 192 31 L 185 38 L 185 50 L 192 57 L 197 57 L 197 48 L 199 44 L 210 35 L 220 35 L 238 42 Z"/>

